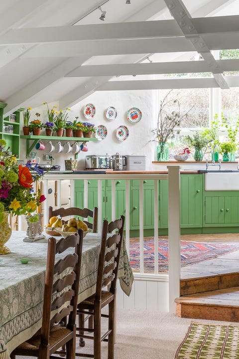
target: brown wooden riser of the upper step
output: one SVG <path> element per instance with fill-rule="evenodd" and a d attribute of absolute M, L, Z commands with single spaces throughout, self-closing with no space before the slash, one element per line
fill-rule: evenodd
<path fill-rule="evenodd" d="M 185 296 L 237 286 L 239 286 L 239 272 L 181 279 L 180 295 Z"/>

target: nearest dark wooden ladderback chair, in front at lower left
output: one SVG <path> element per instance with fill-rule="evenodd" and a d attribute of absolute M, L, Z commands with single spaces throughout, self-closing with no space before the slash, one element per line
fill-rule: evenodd
<path fill-rule="evenodd" d="M 66 348 L 67 359 L 75 358 L 82 243 L 82 229 L 58 242 L 54 237 L 48 239 L 42 327 L 11 353 L 11 359 L 16 356 L 58 358 L 52 354 L 62 354 L 59 351 L 62 347 Z M 65 257 L 55 264 L 56 254 L 65 251 Z"/>

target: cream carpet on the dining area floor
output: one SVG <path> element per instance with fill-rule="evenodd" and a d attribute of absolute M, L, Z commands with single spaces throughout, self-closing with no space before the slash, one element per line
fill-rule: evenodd
<path fill-rule="evenodd" d="M 229 322 L 178 318 L 170 313 L 118 310 L 115 359 L 174 359 L 191 322 L 237 325 Z M 86 347 L 78 347 L 78 350 L 90 352 L 92 343 L 88 340 Z M 26 359 L 16 359 L 23 358 Z M 107 359 L 105 342 L 102 343 L 102 359 Z"/>

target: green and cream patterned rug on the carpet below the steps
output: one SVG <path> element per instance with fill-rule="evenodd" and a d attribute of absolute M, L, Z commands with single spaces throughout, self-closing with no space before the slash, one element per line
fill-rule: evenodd
<path fill-rule="evenodd" d="M 175 359 L 239 359 L 239 327 L 192 323 Z"/>

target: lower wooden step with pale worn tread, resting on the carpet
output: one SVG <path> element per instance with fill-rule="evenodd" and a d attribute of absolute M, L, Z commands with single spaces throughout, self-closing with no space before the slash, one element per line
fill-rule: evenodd
<path fill-rule="evenodd" d="M 239 322 L 239 286 L 182 296 L 175 303 L 181 318 Z"/>

